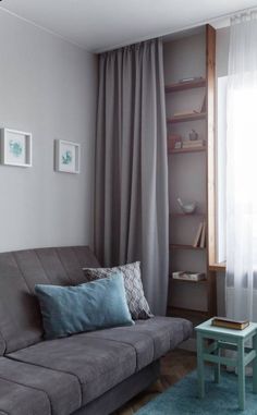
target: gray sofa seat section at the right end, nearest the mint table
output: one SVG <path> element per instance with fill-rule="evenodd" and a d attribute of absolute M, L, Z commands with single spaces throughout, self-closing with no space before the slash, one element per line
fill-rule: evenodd
<path fill-rule="evenodd" d="M 135 326 L 94 331 L 88 335 L 102 341 L 108 339 L 122 342 L 135 347 L 137 370 L 140 370 L 187 340 L 192 331 L 192 322 L 183 318 L 154 317 L 148 320 L 137 320 Z"/>

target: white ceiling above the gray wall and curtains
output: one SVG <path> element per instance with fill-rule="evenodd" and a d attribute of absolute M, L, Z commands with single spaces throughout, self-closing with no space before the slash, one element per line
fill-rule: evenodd
<path fill-rule="evenodd" d="M 175 33 L 257 0 L 2 0 L 1 9 L 91 52 Z"/>

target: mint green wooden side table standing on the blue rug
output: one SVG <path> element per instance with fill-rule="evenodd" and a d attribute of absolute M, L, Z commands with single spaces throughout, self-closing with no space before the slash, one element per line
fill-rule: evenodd
<path fill-rule="evenodd" d="M 197 333 L 198 394 L 205 396 L 205 362 L 215 363 L 215 381 L 220 381 L 220 365 L 237 367 L 238 407 L 245 408 L 245 366 L 253 362 L 253 392 L 257 393 L 257 324 L 250 322 L 244 330 L 211 326 L 212 318 L 195 328 Z M 245 343 L 253 340 L 253 347 Z M 208 344 L 207 344 L 208 343 Z M 236 351 L 234 358 L 221 356 L 221 349 Z M 257 403 L 257 401 L 256 401 Z"/>

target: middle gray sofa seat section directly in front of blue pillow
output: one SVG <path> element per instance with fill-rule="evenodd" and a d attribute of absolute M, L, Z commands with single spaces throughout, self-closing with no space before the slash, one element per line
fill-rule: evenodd
<path fill-rule="evenodd" d="M 10 358 L 76 376 L 83 404 L 98 398 L 136 371 L 136 351 L 88 333 L 44 341 L 8 355 Z"/>

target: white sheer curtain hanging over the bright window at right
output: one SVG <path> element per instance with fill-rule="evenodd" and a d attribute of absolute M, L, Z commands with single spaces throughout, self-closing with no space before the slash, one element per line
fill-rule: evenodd
<path fill-rule="evenodd" d="M 257 13 L 231 22 L 227 135 L 227 315 L 257 321 Z"/>

